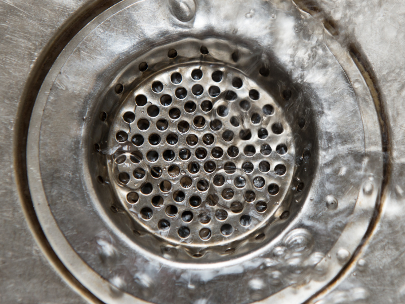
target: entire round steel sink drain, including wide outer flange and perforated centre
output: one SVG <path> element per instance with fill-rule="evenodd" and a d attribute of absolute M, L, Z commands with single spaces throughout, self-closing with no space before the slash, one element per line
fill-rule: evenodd
<path fill-rule="evenodd" d="M 366 233 L 376 126 L 347 51 L 291 2 L 122 1 L 43 84 L 30 191 L 104 302 L 300 303 Z"/>

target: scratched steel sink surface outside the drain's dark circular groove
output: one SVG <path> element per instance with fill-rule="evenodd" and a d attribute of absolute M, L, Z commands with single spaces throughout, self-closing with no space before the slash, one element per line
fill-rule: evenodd
<path fill-rule="evenodd" d="M 405 295 L 405 264 L 401 250 L 405 245 L 401 235 L 401 200 L 404 191 L 401 153 L 404 150 L 405 133 L 401 122 L 405 115 L 402 105 L 405 89 L 400 81 L 403 79 L 402 67 L 405 61 L 401 55 L 401 44 L 405 37 L 400 25 L 405 7 L 393 2 L 362 4 L 324 1 L 317 5 L 320 10 L 311 12 L 313 18 L 319 21 L 326 17 L 333 20 L 335 25 L 332 30 L 337 30 L 335 37 L 339 43 L 343 46 L 355 44 L 361 49 L 361 54 L 366 56 L 378 85 L 378 97 L 386 113 L 385 123 L 389 135 L 387 153 L 390 167 L 386 176 L 381 217 L 377 218 L 375 228 L 369 231 L 370 238 L 352 258 L 339 280 L 332 282 L 329 288 L 310 300 L 322 304 L 400 303 Z M 35 217 L 32 216 L 32 209 L 25 208 L 22 211 L 24 195 L 17 186 L 20 174 L 18 167 L 21 165 L 18 163 L 20 146 L 17 142 L 22 137 L 17 123 L 22 118 L 29 119 L 20 112 L 24 112 L 21 107 L 29 93 L 26 84 L 31 76 L 30 71 L 37 72 L 34 69 L 35 63 L 41 60 L 49 42 L 58 35 L 62 25 L 68 27 L 69 20 L 83 12 L 86 5 L 85 2 L 52 2 L 47 3 L 45 13 L 43 10 L 32 9 L 38 6 L 36 3 L 0 3 L 0 18 L 4 27 L 0 42 L 3 45 L 0 77 L 4 84 L 1 89 L 0 134 L 2 143 L 5 143 L 0 148 L 3 164 L 0 184 L 3 194 L 3 216 L 0 219 L 3 231 L 0 237 L 2 302 L 95 301 L 88 292 L 80 289 L 79 283 L 69 278 L 63 265 L 49 253 L 46 242 L 38 238 L 38 234 L 35 234 L 38 242 L 34 240 L 30 229 L 37 223 L 31 220 L 32 224 L 28 224 L 29 219 Z M 307 10 L 302 3 L 298 6 Z M 54 261 L 54 267 L 47 259 Z M 83 297 L 72 289 L 82 293 Z"/>

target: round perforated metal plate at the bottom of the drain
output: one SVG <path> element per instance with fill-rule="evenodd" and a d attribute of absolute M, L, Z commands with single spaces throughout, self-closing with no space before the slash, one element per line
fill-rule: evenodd
<path fill-rule="evenodd" d="M 282 109 L 249 77 L 217 64 L 154 73 L 118 110 L 107 146 L 116 150 L 109 180 L 134 219 L 187 245 L 228 243 L 264 225 L 294 172 Z"/>

